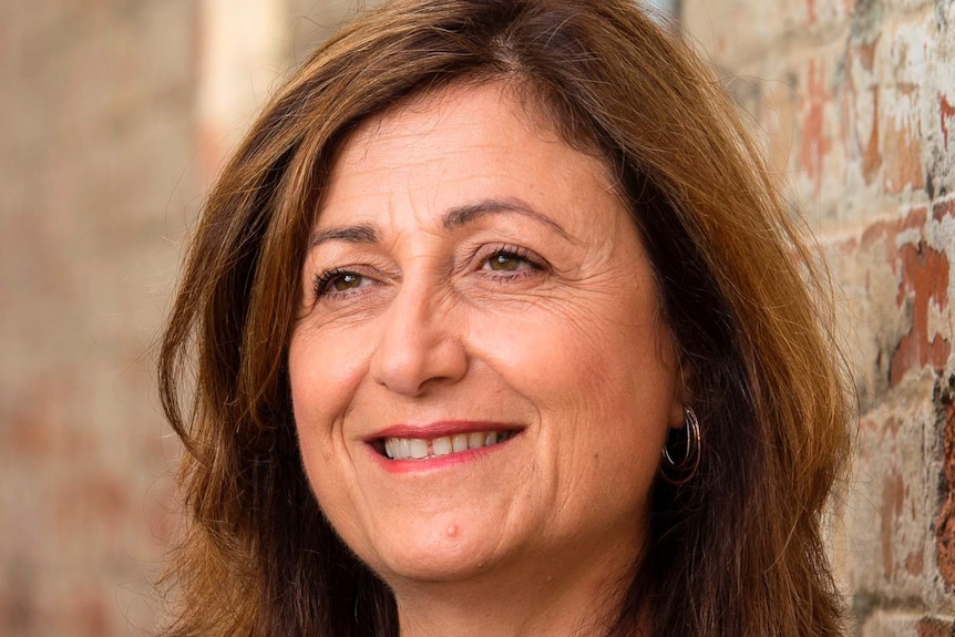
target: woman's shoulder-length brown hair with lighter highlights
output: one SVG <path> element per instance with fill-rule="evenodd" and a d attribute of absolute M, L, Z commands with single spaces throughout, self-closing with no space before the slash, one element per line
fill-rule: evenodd
<path fill-rule="evenodd" d="M 350 130 L 492 80 L 616 171 L 702 427 L 696 475 L 654 485 L 650 546 L 608 635 L 841 635 L 820 518 L 850 405 L 818 268 L 732 104 L 630 0 L 399 0 L 266 106 L 208 198 L 162 342 L 187 450 L 167 634 L 398 634 L 391 593 L 301 468 L 285 364 L 300 266 Z"/>

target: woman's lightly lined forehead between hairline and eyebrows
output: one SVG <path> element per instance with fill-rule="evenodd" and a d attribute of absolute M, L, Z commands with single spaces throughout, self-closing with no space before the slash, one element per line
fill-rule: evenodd
<path fill-rule="evenodd" d="M 333 164 L 317 225 L 439 213 L 487 197 L 616 197 L 605 162 L 566 144 L 505 83 L 455 85 L 362 122 Z"/>

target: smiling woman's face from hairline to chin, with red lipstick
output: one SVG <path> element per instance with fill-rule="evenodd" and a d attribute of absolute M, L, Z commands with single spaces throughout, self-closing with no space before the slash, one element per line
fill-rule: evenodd
<path fill-rule="evenodd" d="M 393 587 L 628 566 L 674 347 L 599 161 L 502 85 L 364 123 L 314 227 L 289 350 L 318 501 Z"/>

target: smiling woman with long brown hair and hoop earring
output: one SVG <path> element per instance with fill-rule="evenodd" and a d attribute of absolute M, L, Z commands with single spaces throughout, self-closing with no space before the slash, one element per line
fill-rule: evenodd
<path fill-rule="evenodd" d="M 841 635 L 814 277 L 732 106 L 629 1 L 364 14 L 192 246 L 168 634 Z"/>

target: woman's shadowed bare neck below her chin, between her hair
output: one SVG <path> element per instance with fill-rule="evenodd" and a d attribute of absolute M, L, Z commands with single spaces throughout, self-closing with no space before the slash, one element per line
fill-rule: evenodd
<path fill-rule="evenodd" d="M 401 637 L 602 637 L 629 584 L 633 554 L 588 557 L 459 582 L 394 582 Z"/>

